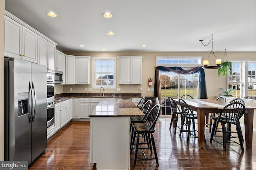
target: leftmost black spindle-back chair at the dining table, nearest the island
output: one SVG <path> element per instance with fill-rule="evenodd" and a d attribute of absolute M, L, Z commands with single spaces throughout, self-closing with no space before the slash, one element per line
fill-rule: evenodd
<path fill-rule="evenodd" d="M 181 123 L 182 123 L 182 111 L 179 109 L 179 107 L 177 106 L 177 104 L 175 103 L 175 101 L 173 100 L 173 98 L 168 97 L 169 101 L 170 101 L 170 105 L 171 105 L 171 112 L 172 112 L 172 118 L 171 118 L 171 123 L 170 123 L 170 127 L 169 130 L 171 130 L 171 127 L 174 127 L 174 134 L 176 134 L 176 130 L 177 127 L 179 128 L 178 130 L 180 130 L 181 126 L 178 126 L 178 118 L 180 115 L 180 119 L 181 119 Z M 172 122 L 175 121 L 174 125 L 172 125 Z"/>

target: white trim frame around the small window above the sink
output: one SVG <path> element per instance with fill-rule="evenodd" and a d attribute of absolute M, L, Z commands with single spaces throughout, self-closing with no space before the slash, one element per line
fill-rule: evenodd
<path fill-rule="evenodd" d="M 96 77 L 95 77 L 95 61 L 98 60 L 114 60 L 114 85 L 113 86 L 98 86 L 96 85 Z M 104 87 L 105 89 L 116 89 L 116 57 L 92 57 L 92 88 L 100 89 Z"/>

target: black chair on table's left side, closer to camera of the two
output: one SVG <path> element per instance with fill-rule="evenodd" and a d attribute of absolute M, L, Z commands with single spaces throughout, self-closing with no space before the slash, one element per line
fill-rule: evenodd
<path fill-rule="evenodd" d="M 187 132 L 188 133 L 187 142 L 189 142 L 190 137 L 198 137 L 198 136 L 196 136 L 196 126 L 195 126 L 195 119 L 197 119 L 197 114 L 194 113 L 192 109 L 190 109 L 188 104 L 183 99 L 179 99 L 179 103 L 180 103 L 180 106 L 182 109 L 182 125 L 180 128 L 180 136 L 181 136 L 182 132 Z M 187 119 L 187 124 L 188 124 L 187 129 L 184 129 L 185 119 Z M 192 133 L 192 131 L 190 130 L 191 123 L 193 126 L 194 133 Z"/>

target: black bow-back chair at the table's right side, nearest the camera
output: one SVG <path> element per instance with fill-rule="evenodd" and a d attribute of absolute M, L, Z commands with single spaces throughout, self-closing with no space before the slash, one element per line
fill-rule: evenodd
<path fill-rule="evenodd" d="M 240 145 L 241 150 L 244 152 L 244 146 L 243 146 L 243 136 L 242 136 L 242 130 L 240 126 L 240 118 L 244 115 L 245 112 L 245 106 L 244 104 L 240 102 L 233 102 L 225 107 L 220 111 L 218 117 L 213 117 L 214 123 L 212 128 L 212 134 L 210 138 L 210 143 L 212 143 L 212 140 L 216 141 L 217 143 L 222 144 L 223 143 L 223 150 L 226 151 L 226 143 L 237 143 Z M 221 123 L 222 126 L 222 141 L 217 141 L 217 138 L 219 135 L 216 135 L 217 131 L 217 125 L 218 123 Z M 225 124 L 227 124 L 227 129 Z M 231 129 L 228 129 L 228 124 L 234 124 L 236 125 L 236 131 L 231 131 Z M 238 136 L 231 136 L 232 133 L 237 133 Z M 232 138 L 239 139 L 239 143 L 232 140 Z"/>

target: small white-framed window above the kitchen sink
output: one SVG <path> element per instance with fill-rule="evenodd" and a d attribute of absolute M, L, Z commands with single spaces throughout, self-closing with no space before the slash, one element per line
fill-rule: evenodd
<path fill-rule="evenodd" d="M 116 58 L 93 58 L 92 88 L 116 88 Z"/>

